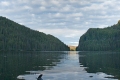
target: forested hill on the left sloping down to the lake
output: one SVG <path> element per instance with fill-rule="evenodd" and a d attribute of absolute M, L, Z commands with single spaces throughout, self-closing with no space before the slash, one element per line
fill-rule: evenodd
<path fill-rule="evenodd" d="M 0 16 L 0 50 L 68 51 L 69 47 L 52 35 Z"/>

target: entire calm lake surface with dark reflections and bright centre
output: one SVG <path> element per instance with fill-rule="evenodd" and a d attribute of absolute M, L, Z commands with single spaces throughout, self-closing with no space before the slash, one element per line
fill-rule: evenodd
<path fill-rule="evenodd" d="M 120 52 L 0 52 L 0 80 L 120 80 Z"/>

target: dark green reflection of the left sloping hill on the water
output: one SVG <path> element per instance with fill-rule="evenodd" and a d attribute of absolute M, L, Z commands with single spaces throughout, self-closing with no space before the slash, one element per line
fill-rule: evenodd
<path fill-rule="evenodd" d="M 16 80 L 25 71 L 51 69 L 62 57 L 61 52 L 1 52 L 0 79 Z"/>

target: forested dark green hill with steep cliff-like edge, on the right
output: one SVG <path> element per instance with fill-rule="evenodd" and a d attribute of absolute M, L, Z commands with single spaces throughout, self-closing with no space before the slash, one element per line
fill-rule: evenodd
<path fill-rule="evenodd" d="M 90 28 L 80 37 L 78 51 L 120 51 L 120 21 L 107 28 Z"/>

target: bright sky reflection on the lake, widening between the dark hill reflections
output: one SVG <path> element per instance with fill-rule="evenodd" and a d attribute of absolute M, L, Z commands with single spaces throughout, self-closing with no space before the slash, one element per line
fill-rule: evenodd
<path fill-rule="evenodd" d="M 83 65 L 79 63 L 78 56 L 78 54 L 69 53 L 65 59 L 62 59 L 61 62 L 59 62 L 60 64 L 56 64 L 56 66 L 50 70 L 27 71 L 30 74 L 20 75 L 18 78 L 25 80 L 36 80 L 39 74 L 42 73 L 43 80 L 118 80 L 110 79 L 109 77 L 113 76 L 102 72 L 87 73 L 85 71 L 86 67 L 83 67 Z"/>

